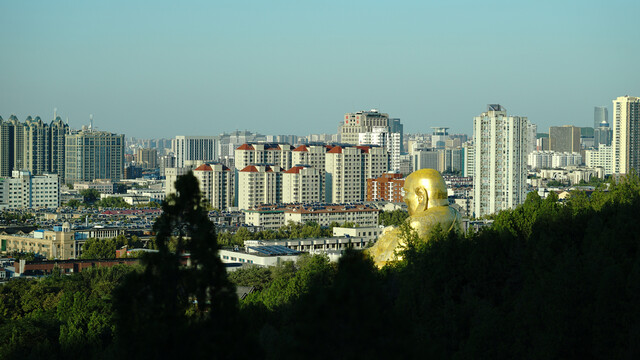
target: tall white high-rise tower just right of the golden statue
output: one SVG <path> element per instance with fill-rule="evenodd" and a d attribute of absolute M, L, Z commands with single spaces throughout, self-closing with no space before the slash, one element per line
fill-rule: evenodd
<path fill-rule="evenodd" d="M 524 202 L 529 121 L 507 116 L 505 108 L 491 104 L 473 122 L 474 208 L 475 216 L 480 217 Z"/>

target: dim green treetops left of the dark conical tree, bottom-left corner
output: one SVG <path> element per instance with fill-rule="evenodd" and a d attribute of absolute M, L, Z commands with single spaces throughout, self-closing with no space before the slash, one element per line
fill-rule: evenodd
<path fill-rule="evenodd" d="M 114 341 L 109 300 L 137 268 L 97 267 L 70 276 L 17 279 L 0 287 L 0 358 L 106 356 Z"/>

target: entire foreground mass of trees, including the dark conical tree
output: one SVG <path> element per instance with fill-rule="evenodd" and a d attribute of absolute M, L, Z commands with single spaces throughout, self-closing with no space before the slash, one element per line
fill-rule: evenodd
<path fill-rule="evenodd" d="M 143 268 L 0 287 L 0 358 L 640 356 L 635 176 L 564 203 L 531 193 L 476 233 L 424 241 L 400 221 L 407 247 L 382 270 L 357 251 L 243 268 L 229 280 L 256 291 L 241 301 L 194 180 L 165 204 Z"/>

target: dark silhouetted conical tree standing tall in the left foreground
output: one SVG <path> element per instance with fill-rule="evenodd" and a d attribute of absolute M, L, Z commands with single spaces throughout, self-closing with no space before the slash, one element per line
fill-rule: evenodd
<path fill-rule="evenodd" d="M 200 198 L 193 173 L 178 178 L 154 225 L 159 251 L 146 254 L 144 272 L 131 274 L 116 294 L 123 356 L 200 358 L 235 349 L 235 288 Z"/>

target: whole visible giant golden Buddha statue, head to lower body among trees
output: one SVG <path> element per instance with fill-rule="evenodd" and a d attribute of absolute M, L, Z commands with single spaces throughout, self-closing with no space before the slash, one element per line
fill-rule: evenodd
<path fill-rule="evenodd" d="M 418 233 L 420 239 L 427 235 L 436 224 L 445 231 L 462 231 L 460 213 L 449 206 L 447 186 L 442 175 L 433 169 L 414 171 L 404 182 L 404 202 L 407 203 L 407 222 Z M 397 251 L 404 246 L 400 229 L 387 227 L 367 253 L 377 267 L 396 260 Z"/>

